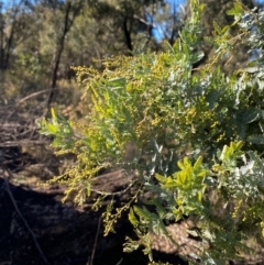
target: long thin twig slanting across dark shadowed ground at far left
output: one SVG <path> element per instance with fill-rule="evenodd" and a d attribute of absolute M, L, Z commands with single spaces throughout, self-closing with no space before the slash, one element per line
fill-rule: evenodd
<path fill-rule="evenodd" d="M 40 246 L 40 244 L 38 244 L 38 242 L 37 242 L 37 240 L 35 238 L 34 232 L 32 231 L 32 229 L 30 228 L 29 223 L 26 222 L 26 220 L 22 216 L 22 213 L 21 213 L 21 211 L 20 211 L 20 209 L 19 209 L 19 207 L 18 207 L 18 205 L 16 205 L 14 198 L 13 198 L 13 195 L 12 195 L 12 192 L 10 190 L 10 187 L 9 187 L 9 180 L 7 179 L 7 176 L 4 174 L 6 172 L 8 173 L 9 176 L 11 174 L 8 170 L 3 170 L 3 179 L 4 179 L 4 183 L 6 183 L 6 187 L 7 187 L 7 192 L 8 192 L 9 197 L 10 197 L 12 203 L 13 203 L 13 207 L 14 207 L 15 211 L 18 212 L 19 217 L 21 218 L 21 220 L 23 221 L 24 225 L 29 230 L 29 232 L 30 232 L 30 234 L 31 234 L 31 236 L 32 236 L 32 239 L 34 241 L 34 244 L 35 244 L 35 246 L 36 246 L 36 249 L 37 249 L 42 260 L 45 262 L 45 264 L 50 265 L 47 258 L 45 257 L 45 255 L 44 255 L 44 253 L 43 253 L 43 251 L 42 251 L 42 249 L 41 249 L 41 246 Z"/>

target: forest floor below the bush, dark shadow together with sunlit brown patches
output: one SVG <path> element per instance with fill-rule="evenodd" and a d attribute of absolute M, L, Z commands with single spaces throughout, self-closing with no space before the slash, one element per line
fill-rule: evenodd
<path fill-rule="evenodd" d="M 0 150 L 1 151 L 1 150 Z M 10 151 L 10 148 L 9 148 Z M 34 150 L 35 151 L 35 150 Z M 2 153 L 6 150 L 2 150 Z M 7 153 L 7 152 L 6 152 Z M 11 152 L 12 153 L 12 152 Z M 15 150 L 14 153 L 18 153 Z M 125 236 L 134 239 L 133 228 L 124 213 L 116 224 L 116 233 L 103 236 L 101 213 L 109 200 L 99 211 L 92 211 L 94 199 L 82 208 L 73 201 L 62 203 L 64 186 L 43 187 L 53 175 L 57 175 L 57 158 L 47 154 L 50 162 L 34 164 L 37 157 L 29 161 L 25 154 L 7 153 L 9 170 L 0 167 L 0 265 L 147 265 L 148 257 L 142 250 L 123 253 Z M 34 153 L 35 155 L 37 152 Z M 20 156 L 24 156 L 21 159 Z M 43 157 L 43 153 L 40 154 Z M 14 159 L 14 157 L 16 157 Z M 21 161 L 28 166 L 14 168 Z M 11 163 L 12 162 L 12 163 Z M 52 166 L 47 166 L 52 165 Z M 117 191 L 123 189 L 128 180 L 121 170 L 98 176 L 98 189 Z M 116 206 L 128 200 L 128 195 L 117 198 Z M 184 252 L 193 252 L 196 241 L 188 238 L 187 222 L 173 224 L 169 232 L 176 242 L 184 242 Z M 174 265 L 187 264 L 177 256 L 172 244 L 161 238 L 153 238 L 155 261 Z M 264 264 L 263 251 L 246 262 L 230 264 Z"/>

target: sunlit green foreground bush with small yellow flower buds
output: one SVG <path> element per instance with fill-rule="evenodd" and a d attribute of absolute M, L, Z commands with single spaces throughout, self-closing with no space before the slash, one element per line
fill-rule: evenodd
<path fill-rule="evenodd" d="M 131 192 L 131 200 L 120 209 L 109 205 L 103 213 L 108 233 L 129 210 L 139 241 L 128 238 L 125 251 L 144 245 L 152 260 L 151 233 L 170 238 L 168 222 L 196 217 L 197 230 L 190 233 L 202 244 L 191 262 L 226 264 L 246 250 L 253 229 L 260 234 L 264 227 L 264 74 L 255 35 L 263 31 L 264 16 L 235 3 L 230 13 L 241 26 L 239 36 L 231 35 L 232 25 L 221 29 L 215 23 L 211 43 L 217 54 L 195 70 L 193 65 L 204 55 L 204 7 L 195 0 L 191 7 L 180 38 L 173 46 L 164 44 L 164 53 L 106 59 L 102 73 L 76 67 L 78 81 L 86 87 L 84 98 L 91 101 L 86 123 L 66 121 L 52 110 L 52 120 L 38 125 L 54 136 L 58 154 L 76 155 L 76 163 L 52 181 L 67 184 L 66 196 L 77 191 L 78 202 L 92 191 L 103 198 L 117 196 L 94 189 L 100 168 L 133 173 L 131 186 L 123 190 Z M 249 36 L 254 60 L 227 76 L 215 65 L 230 55 L 241 36 Z"/>

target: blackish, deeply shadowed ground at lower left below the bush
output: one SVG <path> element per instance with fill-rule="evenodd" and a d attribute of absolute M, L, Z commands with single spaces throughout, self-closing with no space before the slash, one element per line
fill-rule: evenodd
<path fill-rule="evenodd" d="M 62 197 L 57 186 L 15 185 L 0 177 L 0 265 L 148 263 L 142 251 L 122 251 L 125 235 L 133 234 L 127 217 L 117 224 L 117 233 L 105 238 L 99 227 L 101 211 L 63 205 Z M 186 264 L 176 255 L 154 252 L 154 257 Z"/>

